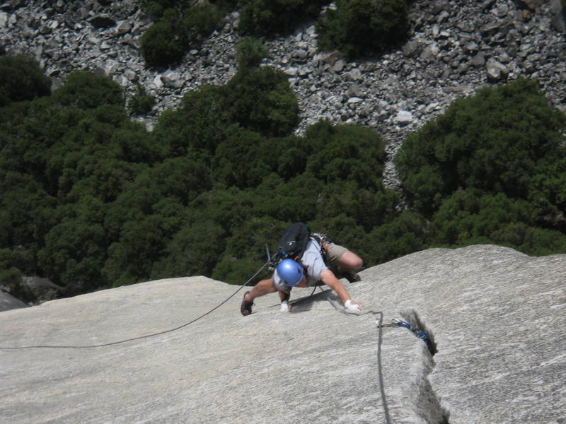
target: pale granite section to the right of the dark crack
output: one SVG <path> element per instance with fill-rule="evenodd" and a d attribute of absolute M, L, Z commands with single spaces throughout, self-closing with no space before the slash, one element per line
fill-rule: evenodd
<path fill-rule="evenodd" d="M 403 285 L 399 307 L 421 311 L 434 334 L 432 387 L 450 423 L 560 423 L 565 416 L 559 376 L 566 355 L 558 348 L 566 343 L 565 259 L 471 246 L 379 267 L 382 285 Z"/>

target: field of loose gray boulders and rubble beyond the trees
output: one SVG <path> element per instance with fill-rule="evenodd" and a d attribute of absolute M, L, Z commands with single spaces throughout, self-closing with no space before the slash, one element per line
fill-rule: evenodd
<path fill-rule="evenodd" d="M 128 94 L 141 84 L 157 100 L 152 114 L 138 118 L 151 129 L 187 90 L 233 76 L 238 13 L 226 16 L 224 28 L 202 46 L 188 47 L 174 69 L 146 69 L 138 47 L 151 21 L 138 6 L 139 0 L 4 2 L 0 51 L 31 54 L 54 84 L 84 68 L 114 78 Z M 270 56 L 263 63 L 286 72 L 299 98 L 299 134 L 320 118 L 369 126 L 386 139 L 391 160 L 410 132 L 456 98 L 520 77 L 535 78 L 550 102 L 566 110 L 566 44 L 560 33 L 566 15 L 560 0 L 417 0 L 411 7 L 407 43 L 375 60 L 347 63 L 338 52 L 317 53 L 314 25 L 267 42 Z M 485 66 L 488 61 L 501 66 Z M 349 95 L 352 81 L 363 102 L 349 101 L 361 97 Z M 471 89 L 454 89 L 461 86 Z M 399 122 L 399 110 L 415 119 Z M 398 186 L 391 162 L 384 183 Z"/>

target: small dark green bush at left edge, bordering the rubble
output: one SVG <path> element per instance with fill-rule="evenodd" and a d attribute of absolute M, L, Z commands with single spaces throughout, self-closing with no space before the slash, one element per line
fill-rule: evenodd
<path fill-rule="evenodd" d="M 50 78 L 37 61 L 23 54 L 0 56 L 0 107 L 49 95 L 50 90 Z"/>

